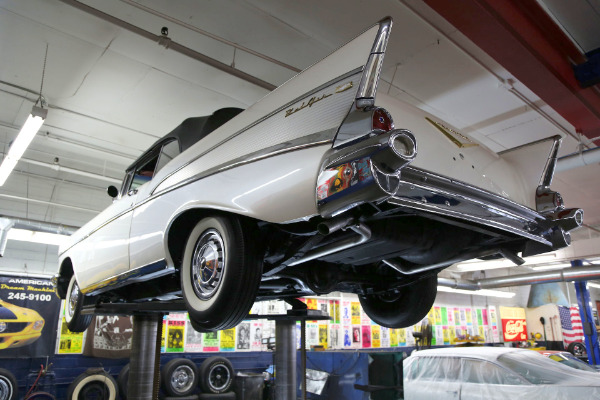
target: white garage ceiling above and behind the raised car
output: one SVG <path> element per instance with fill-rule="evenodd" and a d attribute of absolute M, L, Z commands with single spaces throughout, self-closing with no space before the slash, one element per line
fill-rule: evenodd
<path fill-rule="evenodd" d="M 69 4 L 70 3 L 70 4 Z M 48 117 L 0 187 L 0 214 L 81 226 L 110 204 L 106 187 L 185 118 L 248 107 L 268 90 L 73 6 L 0 0 L 0 150 L 4 156 L 42 80 Z M 271 85 L 280 85 L 386 15 L 394 19 L 381 91 L 445 119 L 492 151 L 559 134 L 561 155 L 579 148 L 575 128 L 423 1 L 81 1 Z M 599 47 L 600 3 L 544 0 L 583 51 Z M 582 28 L 582 27 L 586 28 Z M 265 60 L 201 31 L 249 48 Z M 165 46 L 166 44 L 166 46 Z M 293 68 L 280 65 L 287 64 Z M 589 90 L 597 91 L 597 88 Z M 595 147 L 583 138 L 587 147 Z M 598 236 L 599 165 L 556 176 L 567 206 L 582 206 Z M 52 273 L 55 246 L 9 241 L 0 269 Z"/>

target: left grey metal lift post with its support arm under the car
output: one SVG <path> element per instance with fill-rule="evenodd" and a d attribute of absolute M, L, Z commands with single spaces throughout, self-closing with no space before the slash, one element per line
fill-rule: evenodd
<path fill-rule="evenodd" d="M 183 301 L 100 304 L 82 310 L 82 314 L 133 315 L 128 399 L 158 399 L 163 316 L 170 312 L 185 311 Z"/>

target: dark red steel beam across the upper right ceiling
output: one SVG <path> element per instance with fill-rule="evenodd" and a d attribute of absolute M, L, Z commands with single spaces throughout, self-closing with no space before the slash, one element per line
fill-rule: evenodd
<path fill-rule="evenodd" d="M 600 136 L 600 94 L 573 73 L 585 57 L 535 0 L 424 1 L 578 132 Z"/>

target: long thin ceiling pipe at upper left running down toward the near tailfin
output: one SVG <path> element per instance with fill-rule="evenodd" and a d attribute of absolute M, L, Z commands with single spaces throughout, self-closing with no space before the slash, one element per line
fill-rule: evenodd
<path fill-rule="evenodd" d="M 246 82 L 250 82 L 256 86 L 262 87 L 264 89 L 267 89 L 268 91 L 272 91 L 273 89 L 275 89 L 277 86 L 263 81 L 262 79 L 259 79 L 255 76 L 252 76 L 250 74 L 247 74 L 245 72 L 240 71 L 239 69 L 235 69 L 232 66 L 229 66 L 227 64 L 224 64 L 220 61 L 215 60 L 214 58 L 208 57 L 207 55 L 204 55 L 202 53 L 199 53 L 195 50 L 190 49 L 189 47 L 183 46 L 177 42 L 172 41 L 171 39 L 169 39 L 166 36 L 160 36 L 160 35 L 155 35 L 152 32 L 148 32 L 147 30 L 144 30 L 140 27 L 137 27 L 133 24 L 130 24 L 129 22 L 125 22 L 122 19 L 113 17 L 112 15 L 109 15 L 105 12 L 102 12 L 96 8 L 90 7 L 87 4 L 83 4 L 79 1 L 76 0 L 60 0 L 61 2 L 68 4 L 72 7 L 75 7 L 79 10 L 85 11 L 88 14 L 91 14 L 95 17 L 98 17 L 100 19 L 103 19 L 104 21 L 110 22 L 111 24 L 114 24 L 118 27 L 121 27 L 123 29 L 127 29 L 130 32 L 133 32 L 135 34 L 138 34 L 142 37 L 145 37 L 146 39 L 150 39 L 153 42 L 157 42 L 159 44 L 164 45 L 165 47 L 168 47 L 171 50 L 174 50 L 180 54 L 186 55 L 190 58 L 193 58 L 195 60 L 198 60 L 200 62 L 203 62 L 204 64 L 210 65 L 213 68 L 216 68 L 220 71 L 226 72 L 230 75 L 233 75 L 237 78 L 240 78 Z"/>

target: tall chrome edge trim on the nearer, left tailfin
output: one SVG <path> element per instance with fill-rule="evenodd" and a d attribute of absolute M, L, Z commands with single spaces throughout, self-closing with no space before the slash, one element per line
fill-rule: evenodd
<path fill-rule="evenodd" d="M 372 107 L 375 104 L 377 83 L 383 65 L 383 56 L 390 38 L 392 29 L 392 18 L 386 17 L 379 21 L 379 31 L 371 48 L 371 54 L 367 61 L 365 71 L 356 93 L 356 108 Z"/>

